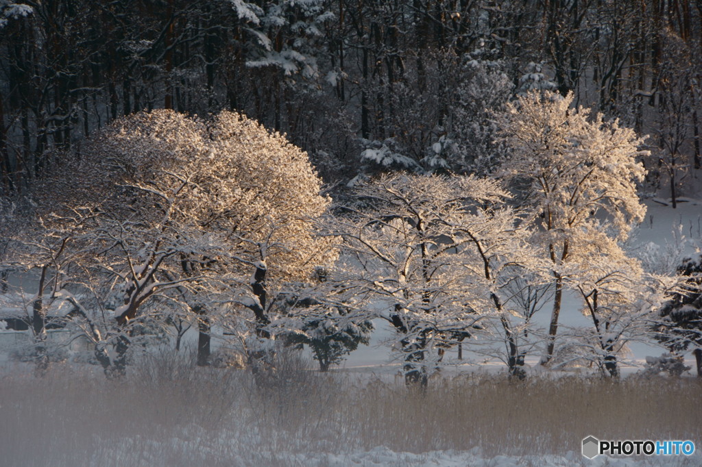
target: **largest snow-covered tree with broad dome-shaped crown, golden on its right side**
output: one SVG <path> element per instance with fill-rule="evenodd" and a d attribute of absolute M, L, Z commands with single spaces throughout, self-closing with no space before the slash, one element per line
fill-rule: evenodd
<path fill-rule="evenodd" d="M 269 284 L 334 258 L 333 240 L 312 229 L 329 204 L 320 187 L 307 155 L 255 121 L 154 111 L 105 128 L 35 201 L 47 233 L 79 226 L 86 257 L 72 280 L 93 293 L 82 314 L 93 325 L 107 316 L 98 353 L 123 371 L 135 326 L 164 310 L 197 317 L 200 363 L 210 315 L 227 302 L 251 309 L 263 335 Z"/>

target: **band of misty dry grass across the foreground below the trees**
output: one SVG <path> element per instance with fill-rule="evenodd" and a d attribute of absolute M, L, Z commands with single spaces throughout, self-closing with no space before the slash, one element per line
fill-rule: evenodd
<path fill-rule="evenodd" d="M 468 450 L 566 454 L 585 435 L 702 437 L 698 379 L 463 376 L 408 391 L 312 372 L 295 359 L 259 378 L 143 360 L 121 381 L 55 367 L 0 379 L 0 453 L 8 466 L 305 465 L 308 452 Z M 295 457 L 296 454 L 300 456 Z M 398 464 L 401 465 L 401 464 Z"/>

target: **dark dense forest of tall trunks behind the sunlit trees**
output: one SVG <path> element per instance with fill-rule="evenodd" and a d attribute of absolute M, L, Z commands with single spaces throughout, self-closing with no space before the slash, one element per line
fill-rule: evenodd
<path fill-rule="evenodd" d="M 650 135 L 647 189 L 699 189 L 700 0 L 0 0 L 0 194 L 142 109 L 240 111 L 326 182 L 489 172 L 525 90 Z"/>

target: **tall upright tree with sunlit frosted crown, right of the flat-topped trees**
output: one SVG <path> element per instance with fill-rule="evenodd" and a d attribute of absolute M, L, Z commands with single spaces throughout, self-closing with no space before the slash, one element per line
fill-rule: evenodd
<path fill-rule="evenodd" d="M 571 108 L 572 101 L 572 93 L 529 93 L 497 118 L 509 148 L 501 173 L 529 209 L 526 222 L 539 229 L 534 242 L 552 262 L 554 302 L 544 361 L 553 353 L 564 267 L 583 254 L 578 244 L 588 243 L 603 225 L 611 238 L 623 240 L 646 212 L 636 187 L 645 173 L 638 160 L 647 154 L 642 140 L 618 121 Z"/>

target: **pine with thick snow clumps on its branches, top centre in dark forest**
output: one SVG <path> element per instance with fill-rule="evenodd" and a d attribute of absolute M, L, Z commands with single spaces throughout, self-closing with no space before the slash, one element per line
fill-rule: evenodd
<path fill-rule="evenodd" d="M 329 2 L 226 1 L 238 16 L 228 38 L 236 52 L 223 48 L 229 55 L 225 60 L 230 61 L 227 77 L 239 85 L 230 90 L 230 102 L 245 101 L 249 91 L 253 116 L 275 130 L 297 133 L 296 128 L 306 126 L 299 119 L 310 111 L 307 106 L 316 100 L 324 82 L 318 60 L 326 55 L 322 52 L 325 28 L 335 19 Z M 245 87 L 239 84 L 243 76 L 251 80 Z"/>

